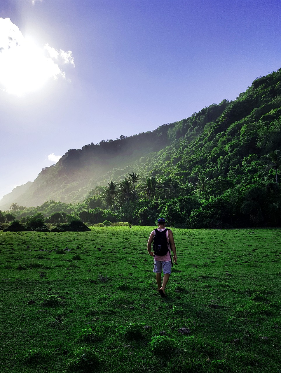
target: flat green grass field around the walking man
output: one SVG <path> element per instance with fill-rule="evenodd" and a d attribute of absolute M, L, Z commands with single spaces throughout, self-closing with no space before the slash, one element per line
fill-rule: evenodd
<path fill-rule="evenodd" d="M 0 231 L 0 372 L 281 372 L 281 231 L 152 229 Z"/>

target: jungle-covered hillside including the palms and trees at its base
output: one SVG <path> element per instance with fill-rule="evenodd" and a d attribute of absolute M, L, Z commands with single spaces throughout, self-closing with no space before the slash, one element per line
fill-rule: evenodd
<path fill-rule="evenodd" d="M 161 215 L 182 228 L 280 226 L 280 150 L 281 69 L 180 122 L 68 151 L 0 220 L 67 213 L 90 225 L 153 225 Z M 36 208 L 18 206 L 31 197 Z"/>

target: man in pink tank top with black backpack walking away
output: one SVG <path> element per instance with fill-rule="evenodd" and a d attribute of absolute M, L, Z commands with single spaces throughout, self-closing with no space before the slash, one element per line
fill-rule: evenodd
<path fill-rule="evenodd" d="M 172 273 L 172 256 L 171 250 L 173 251 L 173 261 L 176 263 L 176 245 L 174 241 L 173 232 L 171 229 L 165 228 L 165 219 L 160 217 L 158 219 L 158 228 L 154 229 L 150 233 L 147 242 L 148 254 L 154 257 L 154 270 L 156 273 L 156 282 L 158 292 L 162 298 L 166 297 L 165 288 L 169 281 L 170 274 Z M 151 244 L 153 243 L 153 251 L 151 251 Z M 163 270 L 163 282 L 162 282 L 162 270 Z M 161 285 L 162 282 L 162 285 Z"/>

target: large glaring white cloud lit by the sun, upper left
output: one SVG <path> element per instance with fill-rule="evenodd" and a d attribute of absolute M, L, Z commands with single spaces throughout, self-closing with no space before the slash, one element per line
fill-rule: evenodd
<path fill-rule="evenodd" d="M 66 63 L 75 66 L 71 51 L 37 47 L 9 18 L 0 18 L 0 89 L 18 96 L 36 91 L 49 79 L 65 79 L 59 64 Z"/>

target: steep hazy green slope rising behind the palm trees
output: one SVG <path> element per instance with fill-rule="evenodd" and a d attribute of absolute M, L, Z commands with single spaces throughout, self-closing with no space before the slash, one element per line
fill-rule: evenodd
<path fill-rule="evenodd" d="M 281 69 L 257 78 L 236 100 L 212 104 L 187 119 L 71 149 L 33 183 L 5 195 L 0 209 L 48 200 L 77 203 L 95 186 L 119 181 L 131 172 L 143 177 L 176 176 L 185 182 L 197 181 L 204 172 L 216 188 L 221 188 L 218 178 L 225 178 L 228 186 L 248 185 L 258 172 L 257 162 L 280 150 L 280 116 Z"/>

